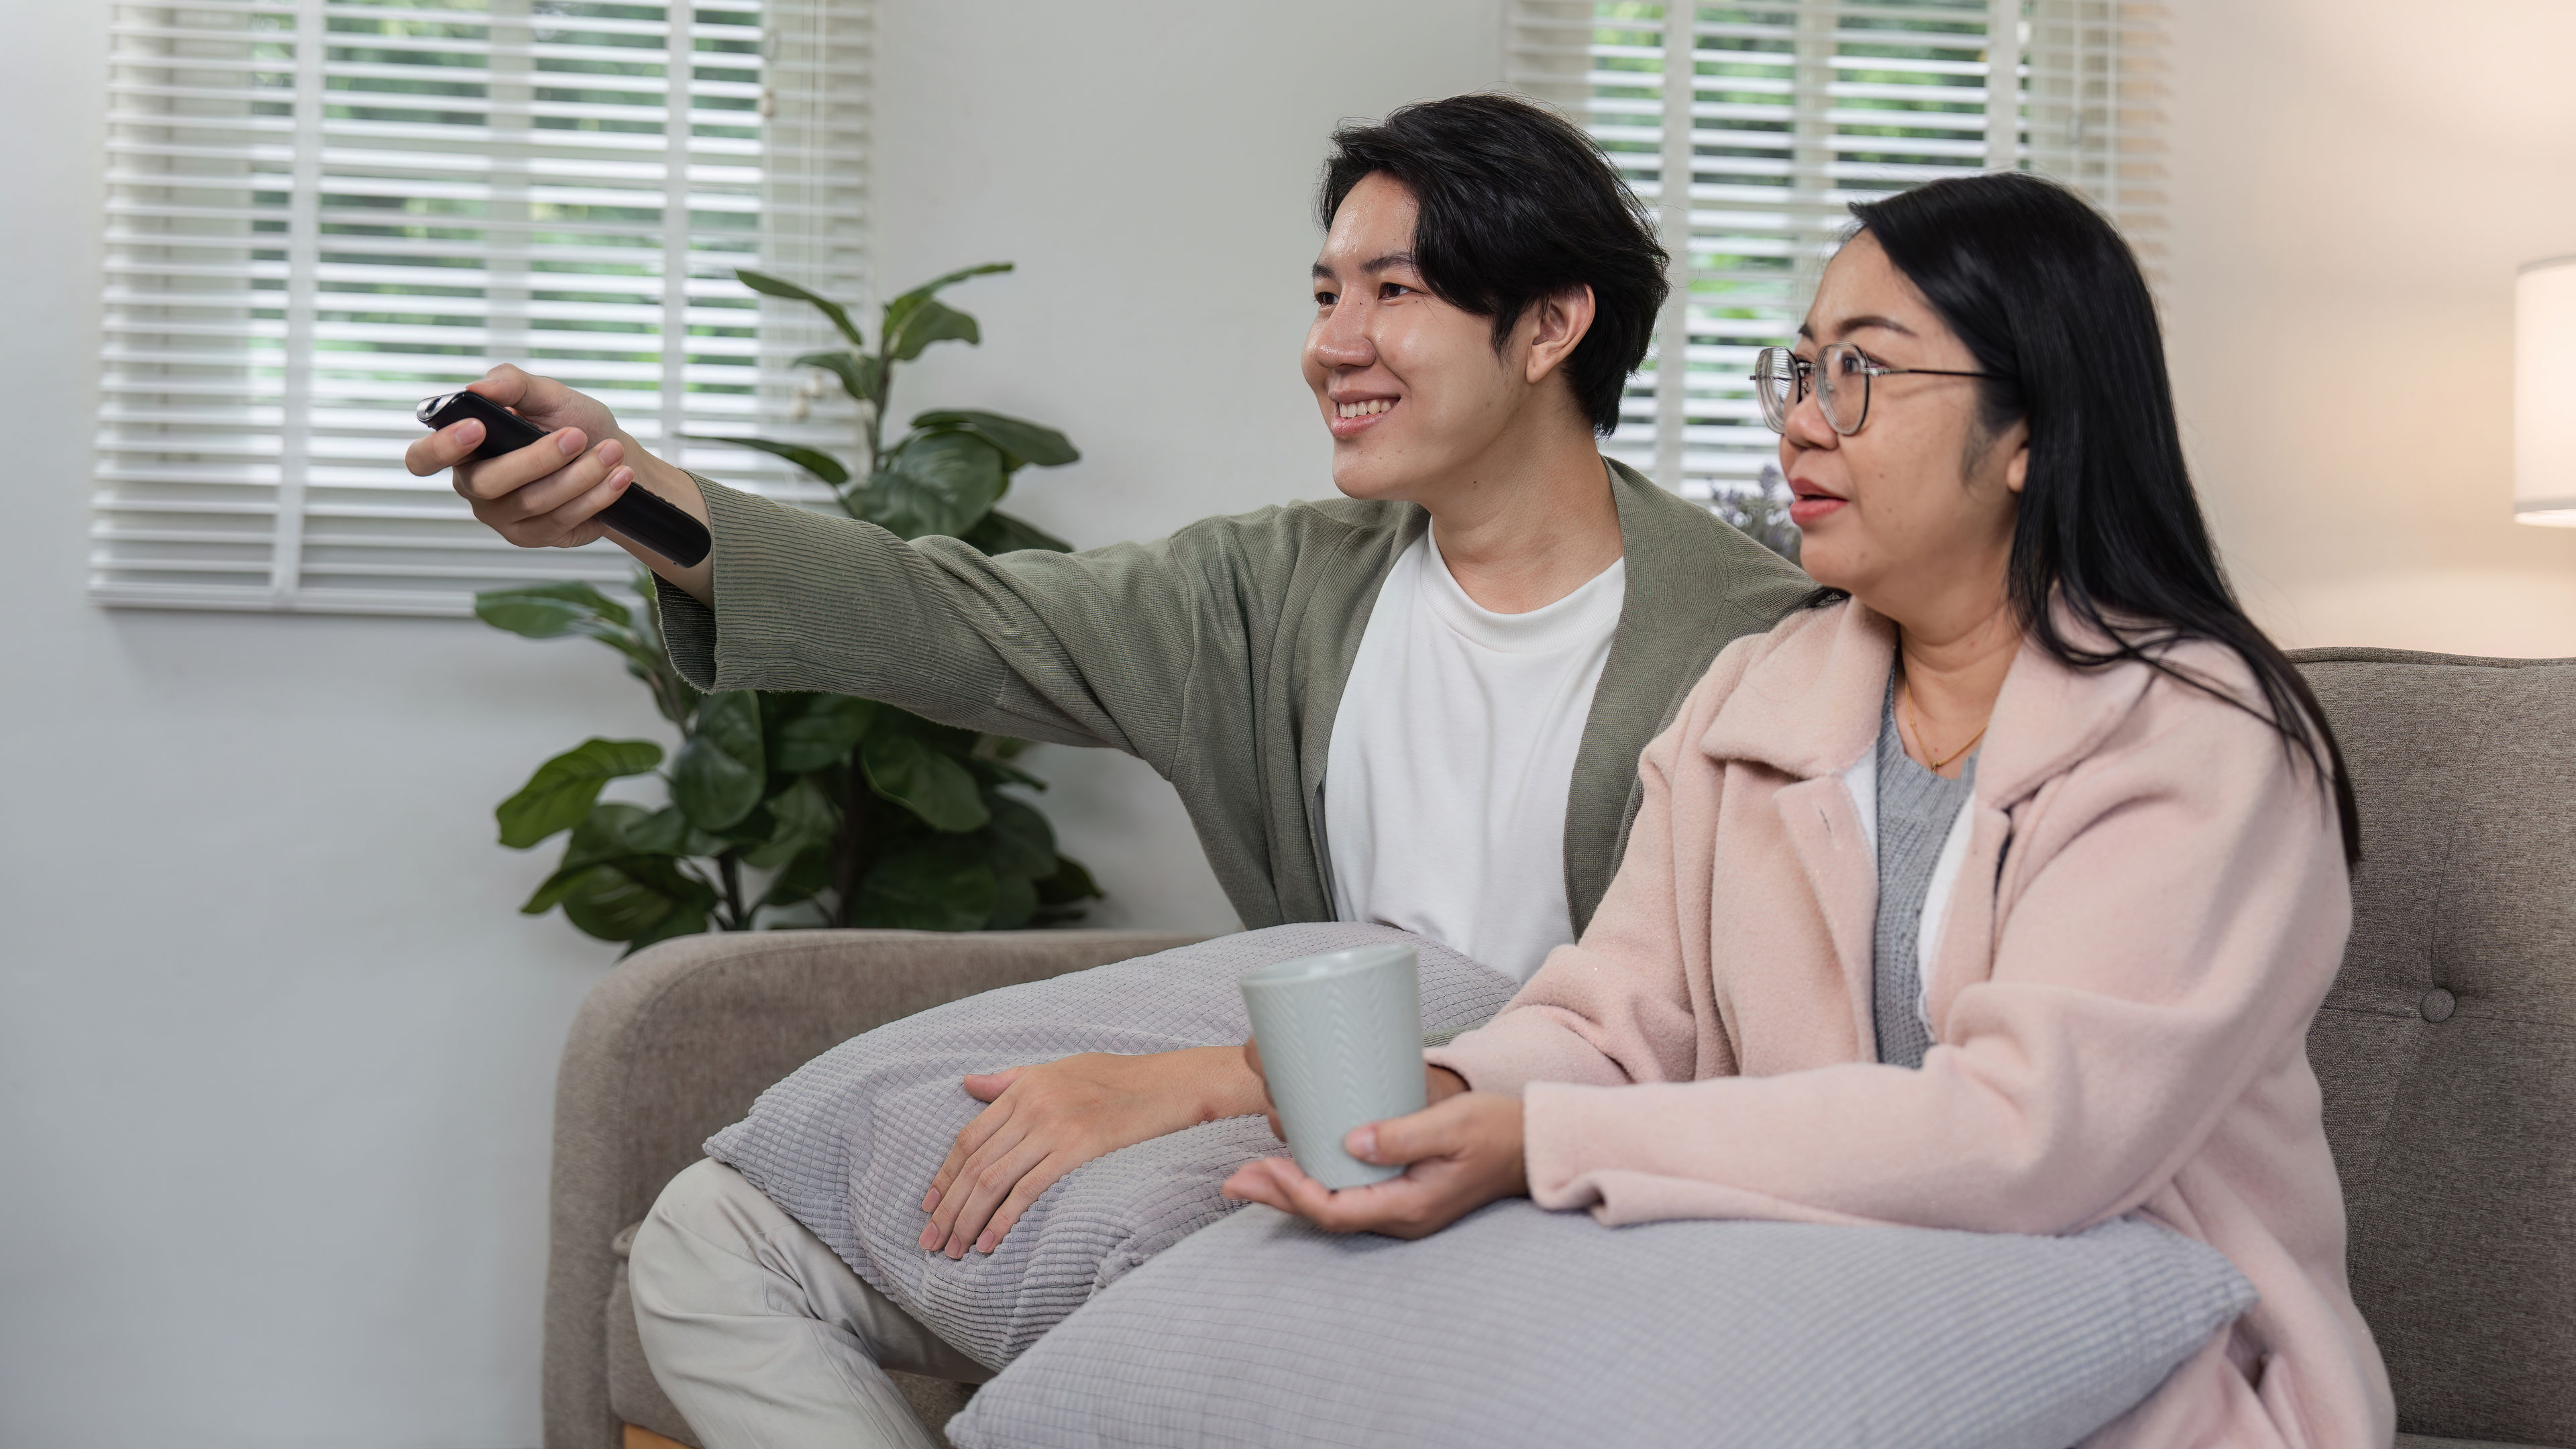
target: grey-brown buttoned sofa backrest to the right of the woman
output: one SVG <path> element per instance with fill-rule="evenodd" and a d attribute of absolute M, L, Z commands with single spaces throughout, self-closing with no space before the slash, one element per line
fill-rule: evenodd
<path fill-rule="evenodd" d="M 2293 655 L 2362 804 L 2308 1034 L 2398 1426 L 2576 1446 L 2576 660 Z"/>

